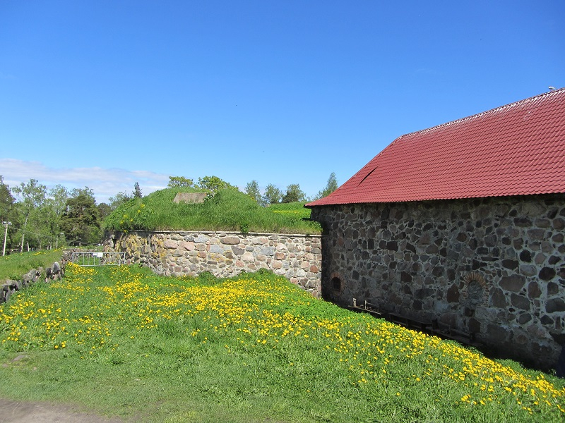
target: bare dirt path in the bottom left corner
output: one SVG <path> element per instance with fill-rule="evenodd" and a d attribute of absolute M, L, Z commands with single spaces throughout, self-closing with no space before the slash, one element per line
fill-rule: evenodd
<path fill-rule="evenodd" d="M 0 399 L 0 423 L 121 423 L 68 405 Z"/>

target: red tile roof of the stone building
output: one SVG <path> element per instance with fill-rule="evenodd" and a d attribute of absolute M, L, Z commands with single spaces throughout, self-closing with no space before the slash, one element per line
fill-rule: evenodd
<path fill-rule="evenodd" d="M 565 88 L 402 135 L 327 204 L 565 192 Z"/>

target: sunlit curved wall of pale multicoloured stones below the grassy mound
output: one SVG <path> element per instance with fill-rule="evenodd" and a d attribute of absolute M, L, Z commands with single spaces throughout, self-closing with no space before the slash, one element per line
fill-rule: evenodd
<path fill-rule="evenodd" d="M 115 238 L 117 236 L 117 238 Z M 235 232 L 131 232 L 114 235 L 108 250 L 126 252 L 128 263 L 149 266 L 165 276 L 218 277 L 270 269 L 319 297 L 320 235 Z"/>

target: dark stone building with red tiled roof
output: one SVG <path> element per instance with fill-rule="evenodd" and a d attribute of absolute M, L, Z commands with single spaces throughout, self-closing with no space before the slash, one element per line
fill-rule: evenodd
<path fill-rule="evenodd" d="M 565 89 L 403 135 L 307 204 L 322 296 L 553 367 L 565 326 Z"/>

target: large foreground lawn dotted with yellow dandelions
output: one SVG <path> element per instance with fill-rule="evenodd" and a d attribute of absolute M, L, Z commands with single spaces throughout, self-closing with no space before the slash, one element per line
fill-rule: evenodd
<path fill-rule="evenodd" d="M 70 265 L 63 281 L 0 306 L 0 345 L 1 397 L 135 422 L 565 417 L 560 379 L 340 309 L 266 271 L 217 280 Z"/>

